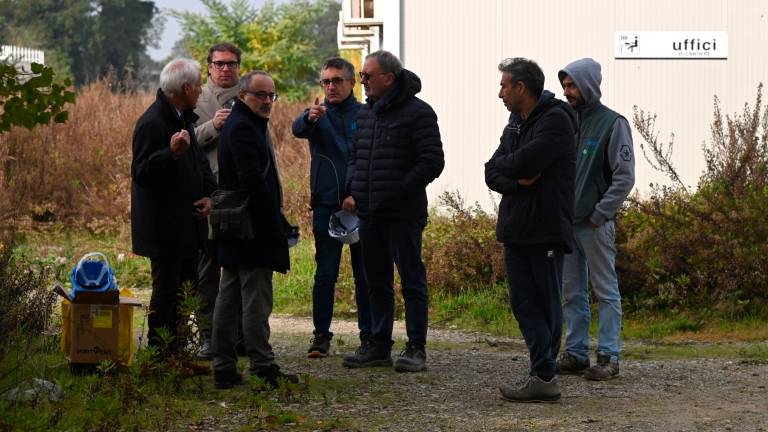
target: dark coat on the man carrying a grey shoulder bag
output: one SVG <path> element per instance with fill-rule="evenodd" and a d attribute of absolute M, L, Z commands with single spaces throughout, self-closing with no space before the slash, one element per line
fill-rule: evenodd
<path fill-rule="evenodd" d="M 254 239 L 222 240 L 218 259 L 225 268 L 290 268 L 288 240 L 280 213 L 280 179 L 267 147 L 268 120 L 238 100 L 219 135 L 219 187 L 247 190 Z"/>

